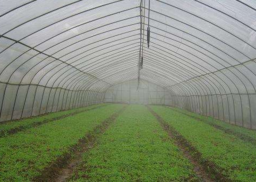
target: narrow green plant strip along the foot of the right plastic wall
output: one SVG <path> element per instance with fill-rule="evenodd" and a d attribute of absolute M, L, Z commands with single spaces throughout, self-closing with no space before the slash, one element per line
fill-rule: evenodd
<path fill-rule="evenodd" d="M 220 127 L 224 128 L 226 130 L 232 131 L 233 133 L 245 135 L 245 136 L 247 136 L 247 138 L 249 140 L 250 139 L 252 139 L 253 141 L 256 140 L 256 131 L 255 130 L 248 129 L 248 128 L 245 128 L 245 127 L 239 127 L 239 126 L 236 126 L 236 125 L 232 125 L 232 124 L 229 124 L 227 122 L 223 122 L 221 120 L 217 120 L 217 119 L 214 119 L 214 118 L 209 117 L 209 116 L 204 116 L 204 115 L 201 115 L 201 114 L 198 114 L 198 113 L 189 112 L 187 110 L 183 110 L 183 109 L 180 109 L 180 108 L 176 108 L 176 107 L 168 107 L 168 108 L 170 108 L 174 111 L 178 111 L 178 112 L 187 114 L 191 117 L 197 118 L 197 119 L 202 120 L 206 123 L 220 126 Z M 255 142 L 253 142 L 253 143 L 255 143 Z"/>

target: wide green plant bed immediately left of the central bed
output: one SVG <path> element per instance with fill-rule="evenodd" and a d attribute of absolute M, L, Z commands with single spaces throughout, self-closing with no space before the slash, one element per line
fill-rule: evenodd
<path fill-rule="evenodd" d="M 33 181 L 122 106 L 107 105 L 0 138 L 0 181 Z"/>

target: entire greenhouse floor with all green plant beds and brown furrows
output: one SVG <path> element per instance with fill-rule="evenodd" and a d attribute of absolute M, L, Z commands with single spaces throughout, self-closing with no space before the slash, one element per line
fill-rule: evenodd
<path fill-rule="evenodd" d="M 0 181 L 256 181 L 256 132 L 102 104 L 0 124 Z"/>

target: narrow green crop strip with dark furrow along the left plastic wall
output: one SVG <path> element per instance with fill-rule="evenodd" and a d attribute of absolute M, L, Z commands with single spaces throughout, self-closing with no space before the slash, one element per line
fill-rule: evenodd
<path fill-rule="evenodd" d="M 96 108 L 99 106 L 105 106 L 105 105 L 106 104 L 92 105 L 92 106 L 88 106 L 88 107 L 81 107 L 81 108 L 67 110 L 67 111 L 60 111 L 60 112 L 54 112 L 54 113 L 41 115 L 41 116 L 35 116 L 35 117 L 26 118 L 26 119 L 22 119 L 22 120 L 14 120 L 14 121 L 5 122 L 2 124 L 0 123 L 0 137 L 7 136 L 9 134 L 9 132 L 12 130 L 18 130 L 21 128 L 22 129 L 29 128 L 29 127 L 35 125 L 36 123 L 44 122 L 46 120 L 56 119 L 61 116 L 65 116 L 68 114 L 73 114 L 76 112 L 81 112 L 81 111 L 85 111 L 88 109 L 93 109 L 93 108 Z"/>

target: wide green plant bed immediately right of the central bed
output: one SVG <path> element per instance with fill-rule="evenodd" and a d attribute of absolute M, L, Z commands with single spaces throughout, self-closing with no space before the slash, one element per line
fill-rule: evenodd
<path fill-rule="evenodd" d="M 150 107 L 201 153 L 201 162 L 214 164 L 230 181 L 256 181 L 255 145 L 164 106 Z"/>

